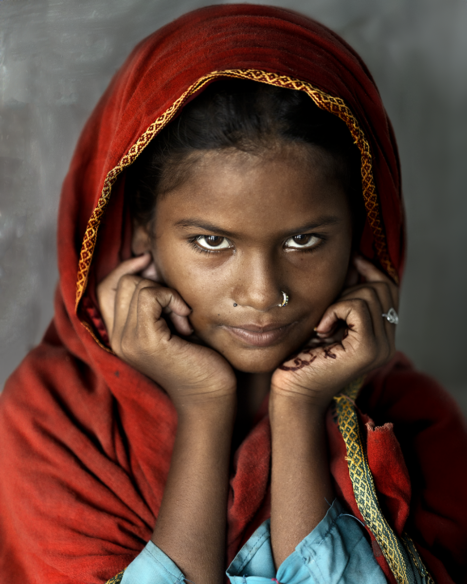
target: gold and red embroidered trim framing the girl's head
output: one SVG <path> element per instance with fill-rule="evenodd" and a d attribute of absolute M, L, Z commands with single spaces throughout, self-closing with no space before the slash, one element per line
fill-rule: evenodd
<path fill-rule="evenodd" d="M 158 117 L 148 129 L 138 138 L 137 142 L 128 150 L 121 159 L 119 164 L 115 166 L 104 180 L 102 193 L 100 194 L 97 206 L 89 218 L 86 232 L 81 246 L 81 253 L 78 263 L 78 274 L 76 279 L 76 305 L 75 310 L 78 310 L 78 304 L 83 296 L 88 283 L 89 267 L 92 261 L 96 240 L 97 230 L 99 229 L 100 220 L 107 207 L 110 199 L 111 187 L 117 180 L 117 176 L 123 171 L 126 166 L 130 165 L 141 154 L 142 150 L 148 143 L 162 130 L 166 124 L 176 115 L 183 103 L 194 93 L 203 88 L 204 85 L 217 77 L 232 77 L 238 79 L 251 79 L 252 81 L 259 81 L 269 85 L 277 85 L 279 87 L 287 87 L 290 89 L 298 89 L 305 91 L 316 103 L 318 107 L 327 112 L 333 113 L 340 117 L 346 124 L 354 142 L 361 152 L 361 176 L 363 187 L 363 198 L 365 207 L 367 209 L 368 221 L 371 225 L 375 249 L 377 251 L 378 259 L 386 272 L 398 282 L 398 274 L 392 265 L 389 258 L 388 249 L 386 246 L 386 239 L 382 229 L 381 220 L 379 218 L 378 197 L 376 194 L 375 184 L 372 175 L 372 157 L 370 151 L 370 144 L 363 131 L 361 130 L 356 117 L 351 112 L 346 103 L 340 99 L 335 98 L 327 93 L 313 87 L 311 84 L 298 79 L 287 77 L 286 75 L 278 75 L 276 73 L 269 73 L 259 71 L 257 69 L 226 69 L 225 71 L 213 71 L 198 79 L 196 83 L 191 85 L 184 93 L 177 99 L 161 116 Z"/>

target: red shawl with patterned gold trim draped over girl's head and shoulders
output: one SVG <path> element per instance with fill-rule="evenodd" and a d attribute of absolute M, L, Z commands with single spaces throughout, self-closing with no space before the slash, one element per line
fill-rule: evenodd
<path fill-rule="evenodd" d="M 219 5 L 142 41 L 78 142 L 60 204 L 55 317 L 1 396 L 0 573 L 8 584 L 106 582 L 151 537 L 175 411 L 160 388 L 105 347 L 95 286 L 130 254 L 126 166 L 184 103 L 226 77 L 301 89 L 346 122 L 362 158 L 368 218 L 361 252 L 398 280 L 403 212 L 395 140 L 367 68 L 343 40 L 295 12 Z M 337 493 L 367 522 L 343 439 L 344 415 L 355 410 L 342 399 L 328 419 L 331 468 Z M 362 460 L 391 533 L 412 537 L 435 581 L 459 581 L 466 513 L 456 449 L 465 439 L 455 405 L 400 356 L 367 380 L 357 404 L 365 412 L 357 420 Z M 269 513 L 269 465 L 266 417 L 236 453 L 229 560 Z M 369 530 L 395 582 L 381 537 Z"/>

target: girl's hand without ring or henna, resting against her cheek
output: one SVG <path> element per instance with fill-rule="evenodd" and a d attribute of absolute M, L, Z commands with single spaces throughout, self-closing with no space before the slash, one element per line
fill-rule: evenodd
<path fill-rule="evenodd" d="M 175 290 L 137 275 L 148 268 L 150 259 L 147 253 L 122 262 L 97 286 L 111 348 L 162 385 L 177 411 L 232 397 L 236 380 L 224 357 L 170 332 L 163 315 L 169 316 L 180 335 L 193 333 L 191 310 Z"/>

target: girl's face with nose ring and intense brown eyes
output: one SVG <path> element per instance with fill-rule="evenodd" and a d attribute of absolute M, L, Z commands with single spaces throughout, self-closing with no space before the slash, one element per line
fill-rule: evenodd
<path fill-rule="evenodd" d="M 159 279 L 193 309 L 198 338 L 238 370 L 276 369 L 343 288 L 351 213 L 319 159 L 304 145 L 208 151 L 157 203 L 148 248 Z"/>

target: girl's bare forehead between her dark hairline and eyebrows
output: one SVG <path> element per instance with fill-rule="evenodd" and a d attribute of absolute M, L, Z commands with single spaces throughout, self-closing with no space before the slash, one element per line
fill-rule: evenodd
<path fill-rule="evenodd" d="M 205 152 L 182 185 L 158 201 L 158 227 L 208 222 L 235 231 L 247 225 L 277 231 L 298 227 L 304 217 L 308 223 L 350 217 L 343 187 L 306 150 L 291 144 L 254 153 Z"/>

